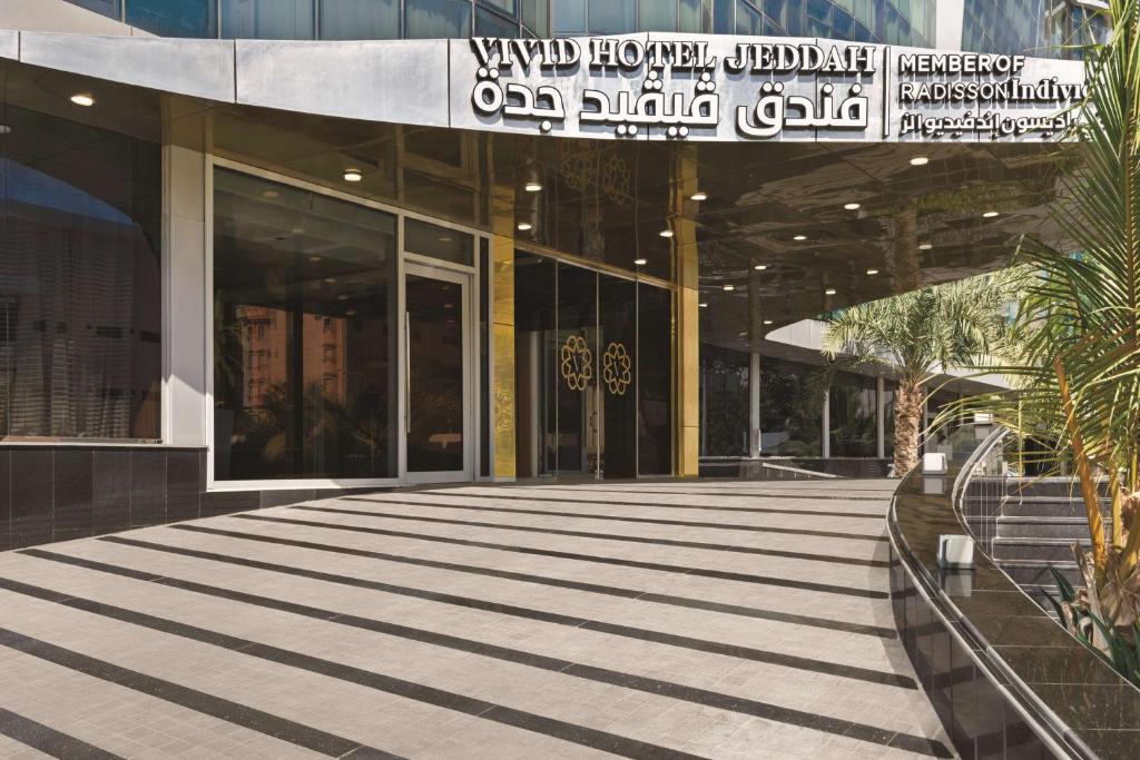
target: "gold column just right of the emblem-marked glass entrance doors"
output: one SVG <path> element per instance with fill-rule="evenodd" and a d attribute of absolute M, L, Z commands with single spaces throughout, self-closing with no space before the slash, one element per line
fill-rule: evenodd
<path fill-rule="evenodd" d="M 677 291 L 674 307 L 675 469 L 681 477 L 699 474 L 700 458 L 700 318 L 697 226 L 689 221 L 695 212 L 690 199 L 700 187 L 697 177 L 697 146 L 678 145 L 673 164 L 673 252 Z M 687 218 L 685 212 L 687 210 Z"/>

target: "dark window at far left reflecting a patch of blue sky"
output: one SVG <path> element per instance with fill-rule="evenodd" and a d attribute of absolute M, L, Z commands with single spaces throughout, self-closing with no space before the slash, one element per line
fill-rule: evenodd
<path fill-rule="evenodd" d="M 161 436 L 156 142 L 0 106 L 0 436 Z"/>

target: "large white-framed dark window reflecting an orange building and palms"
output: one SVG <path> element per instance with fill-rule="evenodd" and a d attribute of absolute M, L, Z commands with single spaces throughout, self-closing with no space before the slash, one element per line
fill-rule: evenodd
<path fill-rule="evenodd" d="M 215 480 L 397 475 L 396 221 L 215 170 Z"/>

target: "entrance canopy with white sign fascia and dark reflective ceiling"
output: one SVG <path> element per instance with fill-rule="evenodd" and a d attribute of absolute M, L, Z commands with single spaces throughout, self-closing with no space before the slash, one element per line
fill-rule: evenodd
<path fill-rule="evenodd" d="M 692 288 L 701 341 L 728 346 L 1052 236 L 1083 95 L 1078 62 L 789 38 L 0 32 L 0 58 L 17 107 L 74 117 L 64 93 L 99 89 L 121 106 L 101 119 L 176 142 L 210 113 L 215 153 L 339 187 L 360 169 L 353 193 Z M 442 136 L 464 156 L 432 178 L 463 188 L 448 213 L 406 161 Z"/>

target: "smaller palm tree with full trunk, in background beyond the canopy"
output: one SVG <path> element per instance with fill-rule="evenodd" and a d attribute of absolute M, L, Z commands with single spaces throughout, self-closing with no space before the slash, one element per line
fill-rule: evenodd
<path fill-rule="evenodd" d="M 840 365 L 882 365 L 895 391 L 895 474 L 918 464 L 928 386 L 954 368 L 976 367 L 1003 352 L 1004 305 L 1017 293 L 1016 270 L 936 285 L 864 303 L 828 320 L 823 354 Z"/>

